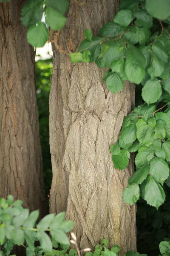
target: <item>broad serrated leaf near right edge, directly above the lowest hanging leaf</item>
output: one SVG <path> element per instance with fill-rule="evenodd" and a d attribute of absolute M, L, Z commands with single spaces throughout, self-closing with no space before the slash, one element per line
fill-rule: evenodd
<path fill-rule="evenodd" d="M 150 174 L 159 183 L 163 184 L 169 176 L 168 164 L 160 157 L 154 157 L 150 161 Z"/>

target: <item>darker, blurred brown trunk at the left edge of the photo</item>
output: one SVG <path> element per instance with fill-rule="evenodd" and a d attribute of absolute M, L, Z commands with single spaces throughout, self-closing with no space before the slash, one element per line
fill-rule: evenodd
<path fill-rule="evenodd" d="M 0 197 L 43 209 L 34 48 L 20 22 L 25 1 L 0 3 Z M 43 213 L 42 213 L 43 214 Z"/>

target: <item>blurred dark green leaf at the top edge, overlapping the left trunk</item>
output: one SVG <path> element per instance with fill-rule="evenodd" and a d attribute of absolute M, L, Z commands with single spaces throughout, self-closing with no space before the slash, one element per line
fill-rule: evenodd
<path fill-rule="evenodd" d="M 21 9 L 21 23 L 24 26 L 31 26 L 39 23 L 42 18 L 42 0 L 29 0 Z"/>

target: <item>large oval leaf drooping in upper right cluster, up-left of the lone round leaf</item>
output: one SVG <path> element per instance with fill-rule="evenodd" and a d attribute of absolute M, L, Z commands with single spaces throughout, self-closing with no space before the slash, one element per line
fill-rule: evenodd
<path fill-rule="evenodd" d="M 135 84 L 140 84 L 145 77 L 145 58 L 139 49 L 131 47 L 126 52 L 125 74 L 127 79 Z"/>

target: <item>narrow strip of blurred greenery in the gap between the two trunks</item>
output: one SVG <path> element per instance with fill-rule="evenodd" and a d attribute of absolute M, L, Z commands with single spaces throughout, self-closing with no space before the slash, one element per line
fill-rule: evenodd
<path fill-rule="evenodd" d="M 51 188 L 52 167 L 49 144 L 49 93 L 52 76 L 52 59 L 36 62 L 36 94 L 40 123 L 40 141 L 42 148 L 45 193 Z"/>

